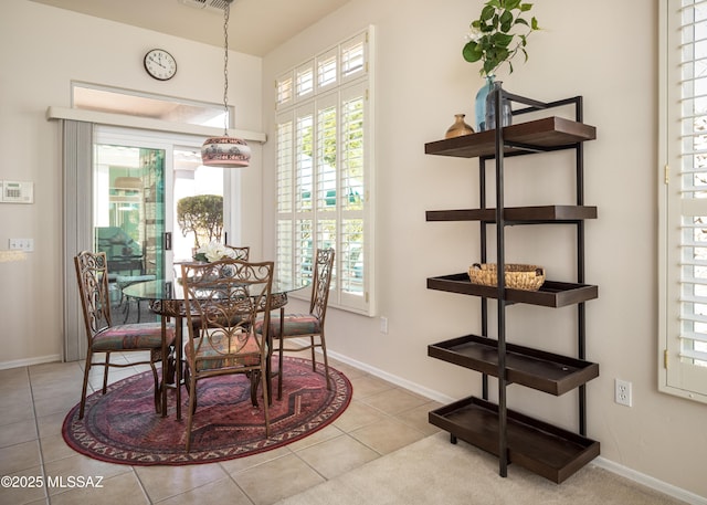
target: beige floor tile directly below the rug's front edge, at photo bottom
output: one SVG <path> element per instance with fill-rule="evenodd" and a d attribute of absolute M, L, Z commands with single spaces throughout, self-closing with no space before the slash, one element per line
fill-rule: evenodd
<path fill-rule="evenodd" d="M 184 466 L 136 466 L 147 495 L 160 502 L 228 476 L 218 463 Z"/>

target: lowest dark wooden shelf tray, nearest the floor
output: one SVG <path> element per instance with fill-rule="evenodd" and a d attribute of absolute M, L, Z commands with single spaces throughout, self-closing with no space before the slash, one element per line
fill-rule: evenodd
<path fill-rule="evenodd" d="M 429 413 L 431 424 L 498 456 L 498 406 L 468 397 Z M 557 484 L 599 455 L 600 444 L 507 410 L 508 461 Z"/>

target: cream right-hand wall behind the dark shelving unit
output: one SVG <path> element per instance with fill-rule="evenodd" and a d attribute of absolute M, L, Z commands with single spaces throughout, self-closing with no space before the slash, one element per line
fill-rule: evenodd
<path fill-rule="evenodd" d="M 477 224 L 428 223 L 425 210 L 477 204 L 475 161 L 425 156 L 455 113 L 472 119 L 482 85 L 478 65 L 461 48 L 482 1 L 351 0 L 264 61 L 265 83 L 348 34 L 374 24 L 376 217 L 378 318 L 331 311 L 327 341 L 345 355 L 440 397 L 478 394 L 478 374 L 426 357 L 426 346 L 477 332 L 478 303 L 425 288 L 431 275 L 464 272 L 478 261 Z M 600 377 L 588 385 L 589 436 L 602 456 L 671 485 L 707 496 L 704 478 L 707 406 L 657 392 L 656 183 L 657 1 L 535 2 L 541 32 L 529 61 L 500 73 L 505 87 L 539 99 L 583 95 L 584 120 L 598 128 L 585 146 L 587 278 L 600 286 L 588 303 L 588 357 Z M 274 131 L 273 92 L 264 94 L 265 128 Z M 274 186 L 273 145 L 265 146 L 265 198 Z M 572 168 L 562 154 L 507 162 L 507 204 L 569 203 Z M 274 222 L 264 207 L 264 222 Z M 537 263 L 553 280 L 572 280 L 573 232 L 561 227 L 513 229 L 509 262 Z M 265 233 L 274 248 L 274 230 Z M 564 246 L 563 244 L 568 244 Z M 510 307 L 510 340 L 572 353 L 576 309 Z M 633 383 L 633 407 L 614 403 L 614 379 Z M 510 387 L 510 404 L 576 427 L 576 396 L 555 398 Z"/>

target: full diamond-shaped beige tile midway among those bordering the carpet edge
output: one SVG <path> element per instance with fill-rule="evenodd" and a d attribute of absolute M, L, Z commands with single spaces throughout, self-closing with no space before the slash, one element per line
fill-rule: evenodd
<path fill-rule="evenodd" d="M 380 455 L 349 435 L 303 449 L 296 454 L 326 478 L 334 478 Z"/>

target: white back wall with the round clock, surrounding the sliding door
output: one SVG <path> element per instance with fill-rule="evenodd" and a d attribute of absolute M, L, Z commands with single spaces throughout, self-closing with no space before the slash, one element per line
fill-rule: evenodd
<path fill-rule="evenodd" d="M 214 30 L 220 23 L 214 17 Z M 155 81 L 144 71 L 143 57 L 151 48 L 177 57 L 171 81 Z M 234 127 L 260 131 L 262 61 L 230 56 Z M 59 124 L 45 119 L 46 107 L 71 106 L 72 81 L 222 103 L 223 49 L 27 0 L 4 0 L 0 69 L 0 179 L 34 181 L 35 200 L 0 204 L 0 249 L 8 248 L 10 238 L 32 238 L 35 248 L 25 261 L 0 263 L 0 366 L 6 368 L 61 359 L 61 135 Z M 242 173 L 239 204 L 253 212 L 242 239 L 260 251 L 261 147 L 252 148 L 255 168 Z"/>

